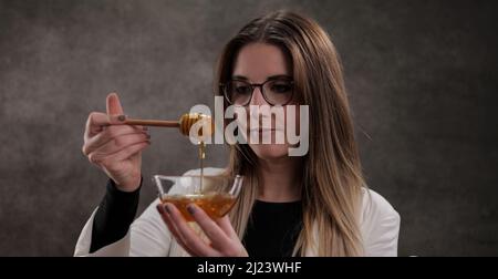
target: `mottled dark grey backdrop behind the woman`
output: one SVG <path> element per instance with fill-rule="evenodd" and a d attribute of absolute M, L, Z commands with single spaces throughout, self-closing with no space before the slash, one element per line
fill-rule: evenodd
<path fill-rule="evenodd" d="M 211 104 L 224 43 L 256 16 L 303 11 L 342 55 L 370 186 L 402 216 L 400 255 L 498 255 L 492 1 L 0 1 L 0 255 L 70 256 L 105 176 L 84 122 L 117 91 L 132 116 Z M 152 132 L 154 173 L 196 149 Z M 210 165 L 226 162 L 209 149 Z"/>

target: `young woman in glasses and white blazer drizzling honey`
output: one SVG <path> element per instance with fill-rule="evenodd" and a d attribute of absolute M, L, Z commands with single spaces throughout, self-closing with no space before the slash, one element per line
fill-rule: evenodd
<path fill-rule="evenodd" d="M 86 123 L 83 153 L 111 179 L 76 256 L 397 255 L 400 216 L 365 186 L 339 56 L 314 21 L 284 11 L 252 20 L 225 46 L 216 84 L 227 105 L 308 105 L 309 123 L 298 124 L 309 125 L 309 152 L 289 156 L 288 143 L 231 145 L 228 167 L 206 172 L 245 176 L 234 209 L 212 220 L 189 206 L 206 238 L 158 200 L 134 220 L 149 136 L 108 125 L 124 118 L 111 94 L 107 114 L 91 113 Z"/>

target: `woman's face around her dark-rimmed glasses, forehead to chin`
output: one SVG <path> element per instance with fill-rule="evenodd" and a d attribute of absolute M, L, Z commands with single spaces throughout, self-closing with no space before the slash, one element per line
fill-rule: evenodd
<path fill-rule="evenodd" d="M 247 80 L 249 83 L 262 84 L 271 76 L 279 75 L 292 78 L 292 70 L 290 69 L 288 58 L 286 58 L 284 53 L 278 46 L 267 43 L 251 43 L 239 51 L 235 62 L 232 78 Z M 255 87 L 250 103 L 246 107 L 248 118 L 246 122 L 239 121 L 239 125 L 242 136 L 259 158 L 274 159 L 288 155 L 290 145 L 286 137 L 286 128 L 288 127 L 286 115 L 288 105 L 295 104 L 297 102 L 292 100 L 282 107 L 283 114 L 271 114 L 271 128 L 264 128 L 262 121 L 264 121 L 263 118 L 269 121 L 270 117 L 268 117 L 268 114 L 249 116 L 249 105 L 269 105 L 261 93 L 261 87 Z M 259 128 L 255 130 L 251 122 L 255 123 L 258 118 L 260 122 Z M 297 120 L 299 120 L 298 108 L 295 110 L 295 118 L 292 124 L 297 125 L 297 131 L 299 131 L 299 121 Z M 276 123 L 283 124 L 276 125 Z M 284 127 L 283 130 L 281 128 L 282 126 Z M 252 130 L 250 130 L 251 127 Z M 259 138 L 259 143 L 251 143 L 248 135 L 251 135 L 252 138 Z M 271 137 L 271 143 L 262 143 L 264 137 Z M 278 137 L 284 138 L 284 141 L 277 142 Z"/>

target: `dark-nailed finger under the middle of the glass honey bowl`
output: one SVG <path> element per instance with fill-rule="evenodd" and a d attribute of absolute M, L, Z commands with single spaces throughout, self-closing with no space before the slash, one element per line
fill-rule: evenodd
<path fill-rule="evenodd" d="M 211 240 L 212 248 L 217 250 L 227 249 L 227 244 L 230 242 L 230 238 L 227 237 L 225 231 L 197 205 L 190 204 L 187 207 L 190 215 L 194 217 L 204 234 Z"/>

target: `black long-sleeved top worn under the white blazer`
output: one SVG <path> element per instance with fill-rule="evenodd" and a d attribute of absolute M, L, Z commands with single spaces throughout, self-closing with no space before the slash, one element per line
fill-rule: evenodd
<path fill-rule="evenodd" d="M 132 193 L 121 192 L 110 179 L 93 220 L 90 252 L 126 235 L 135 218 L 138 199 L 139 188 Z M 290 257 L 301 228 L 301 202 L 256 200 L 242 244 L 251 257 Z"/>

